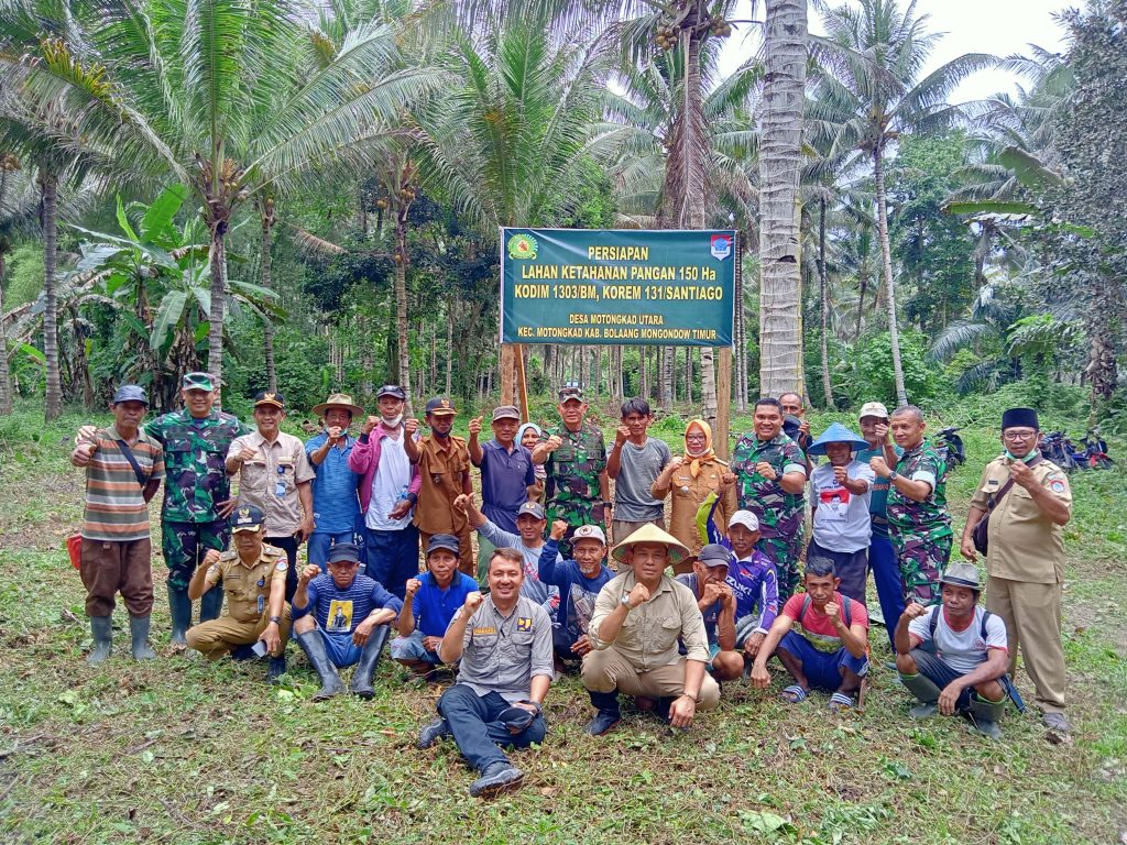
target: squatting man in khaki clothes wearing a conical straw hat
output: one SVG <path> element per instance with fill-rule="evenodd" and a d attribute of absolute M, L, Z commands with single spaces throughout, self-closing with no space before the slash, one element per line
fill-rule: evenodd
<path fill-rule="evenodd" d="M 588 733 L 605 733 L 619 722 L 619 692 L 676 728 L 687 728 L 698 708 L 711 710 L 720 701 L 719 685 L 704 671 L 708 639 L 696 597 L 665 575 L 687 552 L 656 525 L 641 526 L 611 552 L 628 571 L 600 590 L 588 626 L 594 650 L 583 659 L 583 684 L 597 711 Z"/>

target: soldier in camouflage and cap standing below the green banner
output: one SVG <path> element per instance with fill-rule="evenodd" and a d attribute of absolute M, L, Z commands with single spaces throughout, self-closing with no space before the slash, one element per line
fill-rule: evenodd
<path fill-rule="evenodd" d="M 587 403 L 583 389 L 575 382 L 565 384 L 559 399 L 556 408 L 564 425 L 544 432 L 545 439 L 532 451 L 532 461 L 544 464 L 548 473 L 548 522 L 562 519 L 568 524 L 560 554 L 569 558 L 576 528 L 598 525 L 606 530 L 611 502 L 606 444 L 603 433 L 584 420 Z"/>

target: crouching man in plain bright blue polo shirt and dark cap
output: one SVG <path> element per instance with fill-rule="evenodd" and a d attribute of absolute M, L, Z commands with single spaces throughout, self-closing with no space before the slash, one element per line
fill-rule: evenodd
<path fill-rule="evenodd" d="M 391 641 L 391 656 L 416 676 L 434 681 L 442 666 L 438 643 L 450 621 L 476 593 L 478 582 L 458 570 L 459 541 L 452 534 L 435 534 L 426 548 L 427 571 L 407 581 L 407 597 L 399 612 L 399 637 Z"/>

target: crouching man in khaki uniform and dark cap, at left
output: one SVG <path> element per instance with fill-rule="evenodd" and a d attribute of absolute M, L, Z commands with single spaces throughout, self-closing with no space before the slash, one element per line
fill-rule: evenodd
<path fill-rule="evenodd" d="M 188 646 L 208 660 L 219 660 L 228 652 L 236 660 L 249 660 L 268 651 L 266 677 L 273 683 L 285 673 L 290 605 L 285 603 L 285 552 L 263 542 L 265 522 L 258 508 L 238 508 L 231 519 L 236 551 L 221 554 L 212 549 L 196 568 L 188 596 L 195 602 L 222 580 L 228 615 L 189 629 Z"/>

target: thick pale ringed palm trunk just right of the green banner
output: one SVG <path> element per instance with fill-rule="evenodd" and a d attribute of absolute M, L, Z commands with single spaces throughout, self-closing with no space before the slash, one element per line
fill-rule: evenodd
<path fill-rule="evenodd" d="M 760 142 L 760 392 L 802 382 L 799 202 L 806 87 L 806 1 L 767 0 Z"/>

